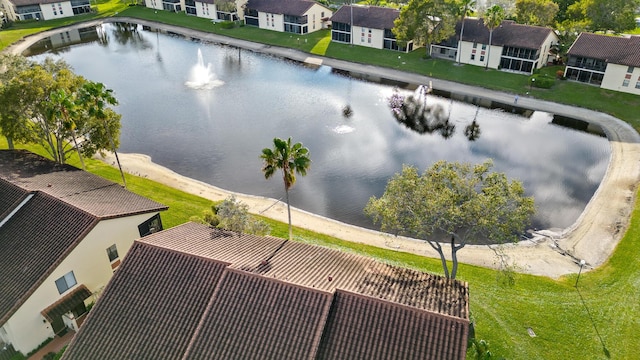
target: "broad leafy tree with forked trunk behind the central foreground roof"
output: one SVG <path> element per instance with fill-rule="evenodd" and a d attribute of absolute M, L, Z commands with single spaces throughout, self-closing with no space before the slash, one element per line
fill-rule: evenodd
<path fill-rule="evenodd" d="M 457 251 L 467 243 L 517 241 L 535 212 L 519 181 L 491 172 L 492 162 L 438 161 L 422 175 L 412 166 L 396 174 L 365 213 L 382 231 L 424 239 L 438 252 L 447 278 L 455 279 Z M 440 240 L 450 236 L 451 273 Z"/>

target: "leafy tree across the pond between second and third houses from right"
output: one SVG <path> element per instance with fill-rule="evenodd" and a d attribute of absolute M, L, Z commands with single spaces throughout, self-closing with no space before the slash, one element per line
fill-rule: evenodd
<path fill-rule="evenodd" d="M 455 0 L 409 0 L 394 21 L 393 33 L 400 42 L 429 45 L 455 34 L 458 20 Z"/>

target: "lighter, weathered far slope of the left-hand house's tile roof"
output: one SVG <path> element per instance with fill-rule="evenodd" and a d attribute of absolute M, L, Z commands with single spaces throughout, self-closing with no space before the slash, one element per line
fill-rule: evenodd
<path fill-rule="evenodd" d="M 166 210 L 122 186 L 24 150 L 0 150 L 0 182 L 42 191 L 101 219 Z"/>

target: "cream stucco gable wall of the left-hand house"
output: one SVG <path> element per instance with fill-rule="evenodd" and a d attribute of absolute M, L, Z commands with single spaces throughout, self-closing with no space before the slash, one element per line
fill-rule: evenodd
<path fill-rule="evenodd" d="M 26 354 L 47 338 L 53 337 L 51 325 L 45 321 L 41 311 L 77 286 L 85 285 L 92 293 L 99 293 L 113 275 L 107 248 L 116 244 L 122 260 L 133 241 L 140 238 L 138 225 L 153 215 L 155 213 L 99 222 L 9 318 L 4 327 L 14 348 Z M 70 271 L 73 271 L 77 284 L 59 294 L 55 281 Z"/>

